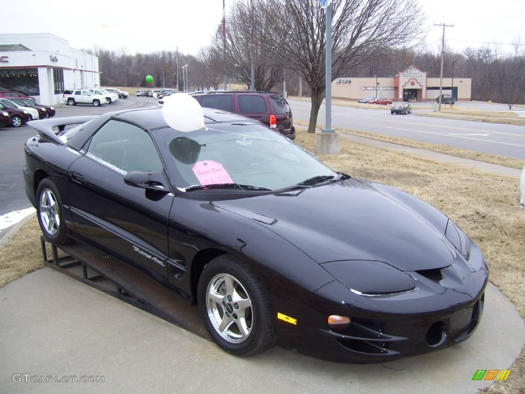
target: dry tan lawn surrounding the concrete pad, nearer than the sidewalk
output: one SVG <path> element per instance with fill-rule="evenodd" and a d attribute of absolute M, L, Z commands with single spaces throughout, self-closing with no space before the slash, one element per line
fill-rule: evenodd
<path fill-rule="evenodd" d="M 297 130 L 296 142 L 316 151 L 314 134 Z M 321 159 L 334 170 L 414 194 L 453 219 L 484 252 L 490 281 L 525 317 L 525 210 L 519 208 L 518 179 L 348 140 L 341 140 L 341 154 L 321 155 Z M 31 220 L 4 246 L 0 286 L 41 266 L 39 234 L 36 219 Z M 523 349 L 510 369 L 507 381 L 486 392 L 525 393 Z"/>

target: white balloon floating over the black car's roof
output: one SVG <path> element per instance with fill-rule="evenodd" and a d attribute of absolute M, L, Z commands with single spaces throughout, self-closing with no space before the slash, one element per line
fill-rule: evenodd
<path fill-rule="evenodd" d="M 188 132 L 204 127 L 201 105 L 185 93 L 174 93 L 164 97 L 162 116 L 168 126 L 178 131 Z"/>

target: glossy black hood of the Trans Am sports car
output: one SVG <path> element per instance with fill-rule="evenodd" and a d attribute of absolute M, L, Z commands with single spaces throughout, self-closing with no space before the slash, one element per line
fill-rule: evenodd
<path fill-rule="evenodd" d="M 382 261 L 418 271 L 446 267 L 456 256 L 445 237 L 445 215 L 412 196 L 395 199 L 353 179 L 213 204 L 267 227 L 320 264 Z"/>

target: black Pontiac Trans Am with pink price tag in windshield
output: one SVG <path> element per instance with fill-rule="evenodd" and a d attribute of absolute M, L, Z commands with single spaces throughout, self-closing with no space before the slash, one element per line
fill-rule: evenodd
<path fill-rule="evenodd" d="M 186 133 L 160 108 L 30 122 L 26 192 L 46 238 L 141 267 L 240 356 L 277 342 L 385 361 L 472 334 L 487 265 L 453 221 L 253 119 L 204 116 Z"/>

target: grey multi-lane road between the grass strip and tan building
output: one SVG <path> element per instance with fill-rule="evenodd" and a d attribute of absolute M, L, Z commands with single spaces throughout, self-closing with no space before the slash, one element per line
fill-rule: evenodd
<path fill-rule="evenodd" d="M 288 102 L 294 120 L 309 120 L 309 102 Z M 414 116 L 418 112 L 405 116 L 391 115 L 387 110 L 332 106 L 332 126 L 525 159 L 525 126 Z M 318 123 L 324 124 L 324 118 L 322 105 Z"/>

